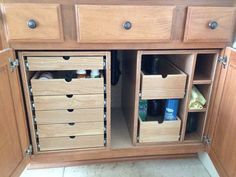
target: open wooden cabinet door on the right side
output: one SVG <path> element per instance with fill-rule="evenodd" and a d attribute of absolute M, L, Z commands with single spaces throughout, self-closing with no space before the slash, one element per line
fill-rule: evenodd
<path fill-rule="evenodd" d="M 222 67 L 217 85 L 209 156 L 221 177 L 236 177 L 236 50 L 225 51 L 228 64 Z"/>

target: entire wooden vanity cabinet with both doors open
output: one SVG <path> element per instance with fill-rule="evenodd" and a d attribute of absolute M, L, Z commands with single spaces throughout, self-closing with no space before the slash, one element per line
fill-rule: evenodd
<path fill-rule="evenodd" d="M 220 174 L 235 177 L 235 51 L 226 50 L 228 64 L 221 54 L 233 35 L 230 0 L 17 2 L 6 0 L 0 15 L 2 44 L 13 48 L 0 53 L 3 177 L 29 163 L 208 150 Z M 163 73 L 145 72 L 142 61 L 150 56 L 165 58 Z M 120 72 L 116 59 L 121 76 L 111 86 Z M 99 70 L 100 76 L 79 78 L 77 70 L 87 76 Z M 45 72 L 52 77 L 40 79 Z M 193 86 L 206 99 L 202 109 L 189 107 Z M 178 118 L 142 120 L 142 99 L 179 99 Z M 197 128 L 190 132 L 192 115 Z"/>

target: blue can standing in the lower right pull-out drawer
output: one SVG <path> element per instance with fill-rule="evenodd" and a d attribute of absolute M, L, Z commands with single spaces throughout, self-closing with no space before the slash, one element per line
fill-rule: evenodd
<path fill-rule="evenodd" d="M 164 120 L 177 120 L 178 106 L 179 106 L 178 99 L 166 100 Z"/>

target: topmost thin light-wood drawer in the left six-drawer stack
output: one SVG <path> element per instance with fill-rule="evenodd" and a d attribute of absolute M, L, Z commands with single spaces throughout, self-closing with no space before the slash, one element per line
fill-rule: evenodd
<path fill-rule="evenodd" d="M 29 71 L 103 69 L 103 56 L 27 57 L 27 62 Z"/>

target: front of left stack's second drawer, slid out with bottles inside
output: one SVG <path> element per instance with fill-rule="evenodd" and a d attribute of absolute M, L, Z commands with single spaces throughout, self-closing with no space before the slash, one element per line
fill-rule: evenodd
<path fill-rule="evenodd" d="M 38 95 L 99 94 L 104 93 L 103 78 L 88 79 L 31 79 L 32 92 Z"/>

